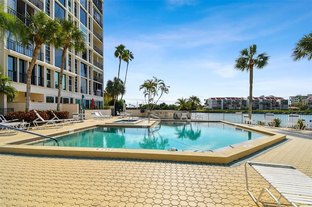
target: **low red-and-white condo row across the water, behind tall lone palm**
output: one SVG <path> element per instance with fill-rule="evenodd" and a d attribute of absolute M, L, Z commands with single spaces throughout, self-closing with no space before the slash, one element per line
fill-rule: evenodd
<path fill-rule="evenodd" d="M 209 98 L 208 108 L 210 109 L 241 109 L 249 107 L 249 98 L 222 97 Z M 288 110 L 288 100 L 274 96 L 253 97 L 253 110 Z"/>

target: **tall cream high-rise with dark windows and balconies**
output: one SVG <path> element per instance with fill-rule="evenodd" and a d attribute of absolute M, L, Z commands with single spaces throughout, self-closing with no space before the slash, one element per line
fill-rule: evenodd
<path fill-rule="evenodd" d="M 27 14 L 43 11 L 51 18 L 70 19 L 85 34 L 86 50 L 68 50 L 64 64 L 61 103 L 81 104 L 86 108 L 92 102 L 103 106 L 103 0 L 2 0 L 4 12 L 25 22 Z M 1 43 L 0 43 L 1 44 Z M 14 102 L 25 102 L 27 69 L 33 54 L 32 47 L 22 45 L 10 36 L 0 46 L 0 65 L 9 76 L 19 96 Z M 32 71 L 30 100 L 57 103 L 58 81 L 62 50 L 43 44 Z M 93 101 L 92 101 L 93 100 Z M 7 105 L 0 95 L 0 108 Z"/>

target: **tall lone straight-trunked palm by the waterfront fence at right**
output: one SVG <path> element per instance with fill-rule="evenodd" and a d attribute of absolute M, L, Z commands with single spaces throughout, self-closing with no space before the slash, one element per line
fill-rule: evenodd
<path fill-rule="evenodd" d="M 268 65 L 269 56 L 266 52 L 257 54 L 257 46 L 251 45 L 249 48 L 245 48 L 240 51 L 240 56 L 235 60 L 235 69 L 241 71 L 249 71 L 249 119 L 252 119 L 253 110 L 253 78 L 254 78 L 254 67 L 262 69 Z"/>

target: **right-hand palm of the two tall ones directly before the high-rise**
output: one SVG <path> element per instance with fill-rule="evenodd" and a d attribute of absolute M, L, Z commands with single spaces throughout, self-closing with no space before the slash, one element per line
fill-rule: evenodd
<path fill-rule="evenodd" d="M 60 96 L 62 90 L 63 72 L 64 72 L 64 60 L 67 49 L 75 49 L 75 52 L 82 52 L 86 49 L 86 39 L 84 33 L 74 24 L 72 20 L 60 19 L 59 23 L 62 27 L 62 42 L 60 45 L 55 45 L 56 48 L 63 48 L 61 61 L 60 61 L 60 73 L 59 73 L 59 93 L 57 111 L 59 111 Z"/>

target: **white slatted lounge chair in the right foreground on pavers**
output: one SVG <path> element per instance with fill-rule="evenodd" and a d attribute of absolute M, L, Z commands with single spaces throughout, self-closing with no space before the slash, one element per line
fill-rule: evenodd
<path fill-rule="evenodd" d="M 261 190 L 257 199 L 249 189 L 248 165 L 270 184 L 269 188 L 264 187 Z M 291 165 L 247 161 L 245 175 L 247 192 L 255 203 L 258 203 L 264 191 L 267 191 L 278 207 L 281 206 L 281 197 L 284 197 L 293 207 L 297 207 L 296 204 L 306 204 L 307 206 L 312 204 L 312 178 Z M 261 184 L 257 184 L 257 186 L 259 185 Z M 271 187 L 280 194 L 278 199 L 270 191 Z"/>

